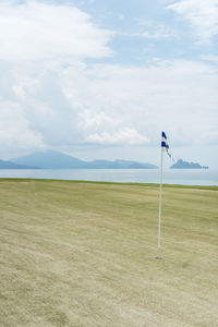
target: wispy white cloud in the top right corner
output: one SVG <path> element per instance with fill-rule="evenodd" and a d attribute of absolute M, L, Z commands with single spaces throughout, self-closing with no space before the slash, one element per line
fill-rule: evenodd
<path fill-rule="evenodd" d="M 210 41 L 218 35 L 217 0 L 177 0 L 167 8 L 191 24 L 199 43 Z"/>

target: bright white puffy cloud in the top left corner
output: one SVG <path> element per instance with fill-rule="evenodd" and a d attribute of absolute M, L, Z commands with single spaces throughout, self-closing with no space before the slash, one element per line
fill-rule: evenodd
<path fill-rule="evenodd" d="M 111 55 L 111 35 L 70 4 L 0 3 L 0 59 L 7 61 L 102 58 Z"/>

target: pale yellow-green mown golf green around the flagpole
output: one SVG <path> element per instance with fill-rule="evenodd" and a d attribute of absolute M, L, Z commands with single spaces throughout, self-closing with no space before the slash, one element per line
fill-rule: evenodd
<path fill-rule="evenodd" d="M 217 191 L 0 180 L 0 326 L 218 326 Z"/>

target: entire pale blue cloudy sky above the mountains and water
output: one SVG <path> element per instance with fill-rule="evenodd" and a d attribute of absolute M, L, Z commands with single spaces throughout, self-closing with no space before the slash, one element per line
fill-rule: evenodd
<path fill-rule="evenodd" d="M 0 45 L 1 159 L 217 168 L 218 0 L 1 1 Z"/>

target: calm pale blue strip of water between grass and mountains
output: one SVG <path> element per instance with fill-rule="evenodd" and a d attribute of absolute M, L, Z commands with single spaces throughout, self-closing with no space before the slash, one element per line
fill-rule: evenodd
<path fill-rule="evenodd" d="M 56 180 L 111 181 L 159 183 L 158 169 L 40 169 L 0 170 L 0 178 L 31 178 Z M 218 170 L 166 169 L 164 183 L 185 185 L 218 185 Z"/>

